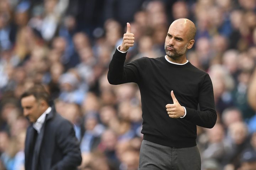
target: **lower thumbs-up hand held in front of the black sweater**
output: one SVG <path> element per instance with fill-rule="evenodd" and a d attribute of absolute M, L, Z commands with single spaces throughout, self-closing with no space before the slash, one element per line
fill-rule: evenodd
<path fill-rule="evenodd" d="M 173 104 L 166 104 L 166 111 L 169 114 L 170 118 L 180 118 L 185 115 L 184 108 L 180 105 L 177 98 L 174 95 L 174 92 L 171 91 L 171 97 L 173 100 Z"/>

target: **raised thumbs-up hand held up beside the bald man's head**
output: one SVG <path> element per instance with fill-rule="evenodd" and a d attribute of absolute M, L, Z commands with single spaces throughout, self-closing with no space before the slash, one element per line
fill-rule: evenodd
<path fill-rule="evenodd" d="M 127 51 L 129 47 L 132 47 L 134 44 L 134 34 L 130 32 L 130 23 L 127 22 L 127 31 L 123 36 L 123 42 L 120 46 L 120 51 Z"/>

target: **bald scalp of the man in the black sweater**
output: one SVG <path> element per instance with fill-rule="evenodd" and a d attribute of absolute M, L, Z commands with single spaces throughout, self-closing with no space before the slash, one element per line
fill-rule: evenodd
<path fill-rule="evenodd" d="M 188 40 L 193 40 L 196 36 L 196 26 L 191 20 L 187 18 L 176 19 L 171 23 L 170 27 L 171 26 L 182 29 L 182 31 L 187 34 Z"/>

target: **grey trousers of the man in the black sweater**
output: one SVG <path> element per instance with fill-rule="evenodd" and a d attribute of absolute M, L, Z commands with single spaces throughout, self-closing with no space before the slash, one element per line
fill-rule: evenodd
<path fill-rule="evenodd" d="M 201 157 L 197 146 L 174 148 L 143 140 L 139 170 L 201 170 Z"/>

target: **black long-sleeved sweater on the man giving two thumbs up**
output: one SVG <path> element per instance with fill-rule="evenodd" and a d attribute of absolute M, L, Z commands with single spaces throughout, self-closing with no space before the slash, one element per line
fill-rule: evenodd
<path fill-rule="evenodd" d="M 209 75 L 190 62 L 172 64 L 164 56 L 142 57 L 124 66 L 125 58 L 126 53 L 116 50 L 109 66 L 108 81 L 115 85 L 138 84 L 144 140 L 176 148 L 196 146 L 196 125 L 213 128 L 217 119 Z M 186 108 L 184 118 L 174 119 L 167 114 L 166 104 L 173 103 L 171 90 Z"/>

